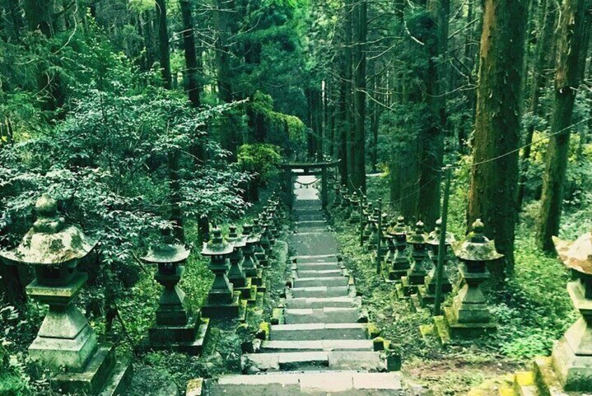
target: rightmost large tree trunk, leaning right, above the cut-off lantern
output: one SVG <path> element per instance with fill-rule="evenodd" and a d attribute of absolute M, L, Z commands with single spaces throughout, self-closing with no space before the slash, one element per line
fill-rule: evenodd
<path fill-rule="evenodd" d="M 561 220 L 563 184 L 572 132 L 570 125 L 581 78 L 579 57 L 581 53 L 586 53 L 586 48 L 582 48 L 584 4 L 585 0 L 565 0 L 561 7 L 556 41 L 555 105 L 537 228 L 537 244 L 545 252 L 555 252 L 551 236 L 558 235 Z"/>

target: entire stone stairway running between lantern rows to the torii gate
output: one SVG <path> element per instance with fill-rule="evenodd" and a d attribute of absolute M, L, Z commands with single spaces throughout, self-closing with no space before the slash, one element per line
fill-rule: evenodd
<path fill-rule="evenodd" d="M 298 182 L 313 177 L 300 176 Z M 204 395 L 400 395 L 400 373 L 388 371 L 383 342 L 341 266 L 318 191 L 295 189 L 295 251 L 286 298 L 269 327 L 241 357 L 243 371 L 204 383 Z"/>

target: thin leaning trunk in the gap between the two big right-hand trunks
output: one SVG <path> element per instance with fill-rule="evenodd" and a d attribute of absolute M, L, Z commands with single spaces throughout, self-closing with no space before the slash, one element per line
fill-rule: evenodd
<path fill-rule="evenodd" d="M 540 97 L 542 88 L 547 80 L 547 69 L 554 57 L 549 56 L 549 48 L 553 39 L 553 27 L 555 25 L 556 4 L 552 0 L 542 0 L 542 12 L 544 13 L 542 29 L 537 39 L 537 48 L 535 50 L 535 62 L 533 65 L 533 81 L 530 83 L 530 102 L 528 111 L 533 116 L 542 116 L 540 109 Z M 526 183 L 526 173 L 528 171 L 528 159 L 530 158 L 530 144 L 533 142 L 535 133 L 535 122 L 528 125 L 526 135 L 524 136 L 524 150 L 522 152 L 522 170 L 520 172 L 520 183 L 518 186 L 517 210 L 520 211 L 524 201 L 524 184 Z"/>

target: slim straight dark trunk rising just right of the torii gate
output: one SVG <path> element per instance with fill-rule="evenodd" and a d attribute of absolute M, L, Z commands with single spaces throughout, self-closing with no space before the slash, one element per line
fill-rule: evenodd
<path fill-rule="evenodd" d="M 355 46 L 353 48 L 353 188 L 366 192 L 366 47 L 368 35 L 368 3 L 360 0 L 355 15 L 356 24 Z"/>

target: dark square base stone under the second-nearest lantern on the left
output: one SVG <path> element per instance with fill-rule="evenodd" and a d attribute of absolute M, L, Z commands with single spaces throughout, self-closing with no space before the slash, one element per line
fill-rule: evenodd
<path fill-rule="evenodd" d="M 173 329 L 173 332 L 176 333 L 171 334 L 167 333 L 170 329 L 164 329 L 161 326 L 153 327 L 149 330 L 149 348 L 152 350 L 173 350 L 193 356 L 201 355 L 209 337 L 209 318 L 199 318 L 195 321 L 195 325 L 187 326 L 188 332 L 183 330 Z"/>

